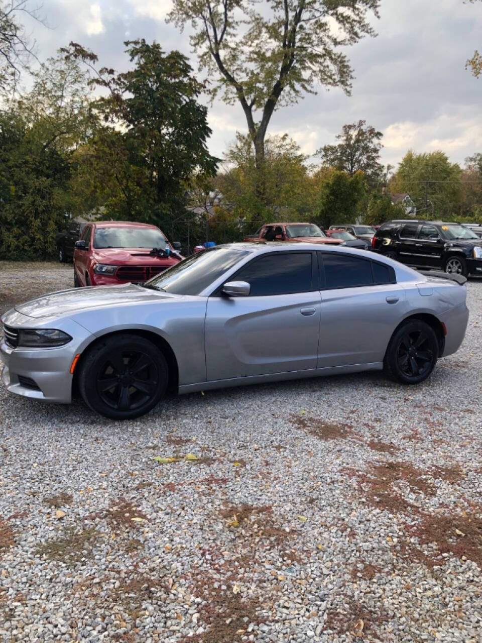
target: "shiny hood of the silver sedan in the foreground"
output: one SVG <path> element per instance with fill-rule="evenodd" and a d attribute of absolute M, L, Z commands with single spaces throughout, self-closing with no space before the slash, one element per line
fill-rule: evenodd
<path fill-rule="evenodd" d="M 163 299 L 179 298 L 179 295 L 161 293 L 134 284 L 101 285 L 88 288 L 73 288 L 46 294 L 31 302 L 15 306 L 17 312 L 33 317 L 59 317 L 71 312 L 85 311 L 123 303 L 143 303 Z"/>

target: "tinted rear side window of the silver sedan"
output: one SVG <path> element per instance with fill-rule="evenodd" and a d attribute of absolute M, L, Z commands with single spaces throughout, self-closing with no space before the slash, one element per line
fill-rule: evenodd
<path fill-rule="evenodd" d="M 397 282 L 391 266 L 337 253 L 319 253 L 318 256 L 322 258 L 325 270 L 325 288 L 355 288 Z"/>

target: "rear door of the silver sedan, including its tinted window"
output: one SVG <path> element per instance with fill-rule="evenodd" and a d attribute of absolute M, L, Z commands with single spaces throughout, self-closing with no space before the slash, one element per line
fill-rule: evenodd
<path fill-rule="evenodd" d="M 391 266 L 348 253 L 319 253 L 317 368 L 380 363 L 402 320 L 405 292 Z"/>

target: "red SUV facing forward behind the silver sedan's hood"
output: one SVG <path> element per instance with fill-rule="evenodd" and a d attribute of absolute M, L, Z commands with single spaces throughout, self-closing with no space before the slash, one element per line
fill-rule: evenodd
<path fill-rule="evenodd" d="M 143 284 L 183 257 L 159 228 L 146 223 L 88 223 L 74 250 L 74 285 Z"/>

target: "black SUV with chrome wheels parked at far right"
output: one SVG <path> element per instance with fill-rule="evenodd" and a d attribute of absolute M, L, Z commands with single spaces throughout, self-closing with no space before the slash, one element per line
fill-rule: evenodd
<path fill-rule="evenodd" d="M 482 239 L 458 223 L 388 221 L 372 248 L 408 266 L 437 268 L 467 276 L 482 274 Z"/>

